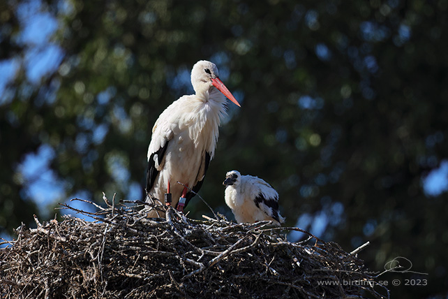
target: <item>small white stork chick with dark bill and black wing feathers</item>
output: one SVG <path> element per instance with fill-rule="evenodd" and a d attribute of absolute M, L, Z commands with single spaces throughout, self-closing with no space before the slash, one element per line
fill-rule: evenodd
<path fill-rule="evenodd" d="M 278 193 L 264 180 L 232 170 L 225 175 L 223 185 L 225 203 L 238 223 L 273 220 L 280 226 L 285 222 L 278 212 Z"/>

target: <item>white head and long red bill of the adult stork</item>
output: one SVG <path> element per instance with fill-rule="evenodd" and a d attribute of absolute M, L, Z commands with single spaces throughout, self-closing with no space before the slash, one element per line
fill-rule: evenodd
<path fill-rule="evenodd" d="M 218 68 L 213 62 L 207 60 L 197 61 L 191 70 L 191 84 L 196 94 L 209 90 L 211 87 L 216 87 L 222 94 L 227 96 L 227 99 L 241 107 L 237 99 L 219 79 Z"/>

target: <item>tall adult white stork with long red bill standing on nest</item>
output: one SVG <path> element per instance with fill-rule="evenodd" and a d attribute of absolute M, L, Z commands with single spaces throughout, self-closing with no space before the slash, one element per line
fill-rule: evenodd
<path fill-rule="evenodd" d="M 227 115 L 225 97 L 240 106 L 210 61 L 197 61 L 191 70 L 191 84 L 195 94 L 182 96 L 158 117 L 148 148 L 146 200 L 163 204 L 166 194 L 166 204 L 176 207 L 182 196 L 178 210 L 183 210 L 195 194 L 177 182 L 195 192 L 202 187 L 215 154 L 218 127 Z M 157 217 L 160 213 L 151 210 L 148 215 Z"/>

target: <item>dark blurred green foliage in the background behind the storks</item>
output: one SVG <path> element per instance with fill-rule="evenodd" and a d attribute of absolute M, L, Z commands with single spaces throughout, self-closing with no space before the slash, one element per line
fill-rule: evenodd
<path fill-rule="evenodd" d="M 242 107 L 230 107 L 221 129 L 207 202 L 226 210 L 228 170 L 260 176 L 289 225 L 325 212 L 322 238 L 348 250 L 370 240 L 361 257 L 374 270 L 405 256 L 429 273 L 431 286 L 392 295 L 447 289 L 447 196 L 428 197 L 421 183 L 448 152 L 446 0 L 47 0 L 64 58 L 37 83 L 17 6 L 0 4 L 0 59 L 20 65 L 0 101 L 1 227 L 37 212 L 17 167 L 40 145 L 54 150 L 60 200 L 124 198 L 132 182 L 143 185 L 152 125 L 192 92 L 179 74 L 209 59 Z M 198 198 L 188 208 L 207 213 Z"/>

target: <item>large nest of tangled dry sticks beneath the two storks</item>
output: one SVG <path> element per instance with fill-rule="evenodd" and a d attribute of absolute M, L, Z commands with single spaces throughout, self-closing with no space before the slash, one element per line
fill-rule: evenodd
<path fill-rule="evenodd" d="M 0 298 L 389 297 L 356 252 L 299 228 L 198 221 L 165 207 L 165 219 L 148 219 L 138 204 L 104 199 L 88 202 L 96 213 L 63 205 L 93 222 L 35 217 L 37 228 L 18 228 L 0 249 Z M 307 238 L 288 242 L 290 231 Z"/>

